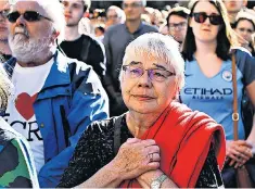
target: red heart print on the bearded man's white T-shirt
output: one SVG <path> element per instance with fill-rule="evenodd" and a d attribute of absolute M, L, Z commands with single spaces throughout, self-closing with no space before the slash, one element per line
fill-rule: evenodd
<path fill-rule="evenodd" d="M 26 92 L 22 92 L 15 100 L 15 108 L 17 112 L 26 119 L 29 121 L 35 114 L 33 104 L 37 98 L 37 93 L 29 96 Z"/>

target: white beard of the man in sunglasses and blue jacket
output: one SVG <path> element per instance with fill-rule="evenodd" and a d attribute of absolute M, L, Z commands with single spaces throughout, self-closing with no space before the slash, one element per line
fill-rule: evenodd
<path fill-rule="evenodd" d="M 21 62 L 34 62 L 42 59 L 47 54 L 42 51 L 46 48 L 50 48 L 50 37 L 41 39 L 31 39 L 25 34 L 16 34 L 9 36 L 9 46 L 12 51 L 12 55 Z"/>

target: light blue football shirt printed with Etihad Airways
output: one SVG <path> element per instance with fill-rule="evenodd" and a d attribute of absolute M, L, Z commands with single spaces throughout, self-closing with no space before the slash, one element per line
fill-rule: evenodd
<path fill-rule="evenodd" d="M 241 115 L 243 88 L 255 80 L 255 60 L 240 50 L 237 55 L 238 112 Z M 180 92 L 180 98 L 192 110 L 204 112 L 221 124 L 227 140 L 233 139 L 231 60 L 224 61 L 220 71 L 213 77 L 203 74 L 195 59 L 187 61 L 186 86 Z M 244 126 L 240 116 L 239 139 L 244 138 Z"/>

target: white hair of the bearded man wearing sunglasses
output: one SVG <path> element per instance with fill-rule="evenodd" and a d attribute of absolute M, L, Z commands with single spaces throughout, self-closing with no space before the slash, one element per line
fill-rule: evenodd
<path fill-rule="evenodd" d="M 64 5 L 59 0 L 9 0 L 11 5 L 14 5 L 18 1 L 36 1 L 52 20 L 53 30 L 60 33 L 58 36 L 58 42 L 61 43 L 64 40 L 65 34 L 65 16 Z"/>

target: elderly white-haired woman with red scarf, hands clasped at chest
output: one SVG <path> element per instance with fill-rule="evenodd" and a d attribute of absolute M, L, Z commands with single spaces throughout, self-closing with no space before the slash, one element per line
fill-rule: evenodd
<path fill-rule="evenodd" d="M 129 111 L 88 126 L 59 187 L 222 186 L 222 127 L 176 102 L 183 70 L 171 37 L 145 34 L 130 42 L 119 75 Z"/>

